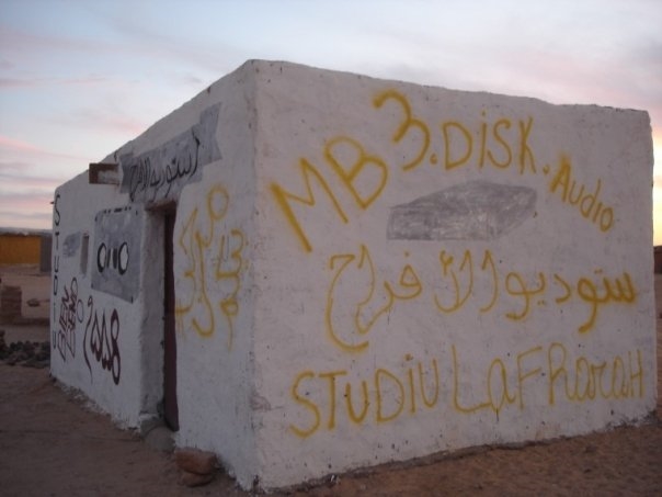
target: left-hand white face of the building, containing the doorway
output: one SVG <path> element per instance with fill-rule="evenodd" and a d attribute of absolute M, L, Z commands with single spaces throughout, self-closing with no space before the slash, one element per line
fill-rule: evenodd
<path fill-rule="evenodd" d="M 58 379 L 127 426 L 162 416 L 164 216 L 175 210 L 175 442 L 214 450 L 246 478 L 260 402 L 252 92 L 252 70 L 239 69 L 104 158 L 119 184 L 81 174 L 57 190 L 52 318 Z"/>

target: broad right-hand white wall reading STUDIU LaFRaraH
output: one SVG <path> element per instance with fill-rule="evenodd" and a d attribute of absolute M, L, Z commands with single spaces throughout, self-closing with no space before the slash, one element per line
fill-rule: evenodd
<path fill-rule="evenodd" d="M 256 78 L 264 486 L 654 409 L 647 113 Z"/>

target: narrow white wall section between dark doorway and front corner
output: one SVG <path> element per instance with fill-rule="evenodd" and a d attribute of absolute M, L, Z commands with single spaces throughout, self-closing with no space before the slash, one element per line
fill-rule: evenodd
<path fill-rule="evenodd" d="M 216 452 L 250 485 L 256 467 L 251 273 L 259 244 L 251 71 L 239 69 L 198 99 L 220 102 L 221 158 L 183 189 L 178 205 L 178 444 Z"/>

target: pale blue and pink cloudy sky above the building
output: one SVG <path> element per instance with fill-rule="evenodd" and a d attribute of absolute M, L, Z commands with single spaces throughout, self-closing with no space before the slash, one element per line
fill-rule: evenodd
<path fill-rule="evenodd" d="M 646 110 L 662 245 L 660 0 L 0 0 L 0 227 L 248 59 Z"/>

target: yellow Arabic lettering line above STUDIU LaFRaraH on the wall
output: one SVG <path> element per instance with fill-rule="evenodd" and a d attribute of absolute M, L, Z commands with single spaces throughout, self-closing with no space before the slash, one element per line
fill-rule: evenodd
<path fill-rule="evenodd" d="M 409 252 L 406 257 L 409 258 Z M 357 253 L 331 256 L 332 276 L 324 310 L 329 337 L 342 350 L 364 352 L 369 344 L 368 334 L 381 318 L 395 306 L 424 297 L 426 293 L 425 300 L 431 298 L 434 308 L 443 314 L 459 313 L 473 300 L 481 313 L 505 307 L 502 315 L 516 323 L 524 321 L 535 309 L 580 303 L 586 309 L 586 318 L 578 324 L 580 334 L 597 326 L 604 308 L 630 305 L 637 298 L 627 271 L 614 278 L 597 269 L 594 275 L 580 274 L 570 280 L 559 273 L 526 275 L 500 270 L 490 250 L 483 250 L 480 264 L 468 249 L 459 256 L 442 249 L 440 276 L 430 284 L 423 282 L 419 270 L 409 262 L 402 264 L 398 280 L 383 278 L 365 245 L 359 246 Z"/>

